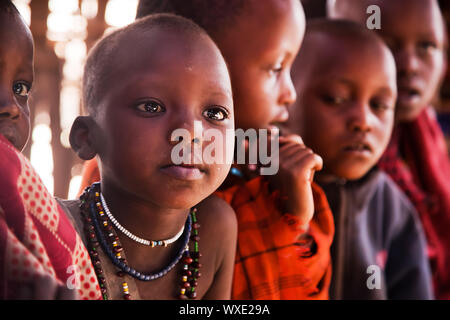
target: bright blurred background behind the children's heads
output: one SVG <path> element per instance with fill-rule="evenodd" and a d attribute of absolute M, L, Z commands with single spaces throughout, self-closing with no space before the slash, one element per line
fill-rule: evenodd
<path fill-rule="evenodd" d="M 30 98 L 32 133 L 24 153 L 55 196 L 73 199 L 82 161 L 69 132 L 81 114 L 81 76 L 87 52 L 106 32 L 134 20 L 138 0 L 13 0 L 35 41 L 35 82 Z M 325 15 L 326 0 L 302 0 L 308 18 Z M 450 1 L 442 0 L 450 27 Z M 450 28 L 449 28 L 450 31 Z M 436 97 L 450 137 L 450 71 Z M 447 139 L 450 145 L 450 139 Z"/>

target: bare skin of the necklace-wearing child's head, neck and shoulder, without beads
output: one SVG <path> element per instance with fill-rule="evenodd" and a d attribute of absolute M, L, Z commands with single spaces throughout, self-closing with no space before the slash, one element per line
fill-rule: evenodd
<path fill-rule="evenodd" d="M 105 57 L 112 70 L 104 84 L 108 89 L 98 93 L 95 116 L 75 121 L 72 146 L 83 159 L 98 156 L 102 192 L 111 212 L 142 238 L 172 237 L 184 225 L 189 208 L 207 198 L 198 205 L 203 267 L 197 294 L 228 299 L 236 221 L 226 203 L 208 196 L 225 179 L 231 161 L 197 166 L 202 173 L 196 180 L 174 177 L 166 170 L 173 164 L 175 129 L 184 128 L 194 137 L 194 120 L 201 121 L 204 130 L 214 128 L 224 135 L 226 129 L 234 129 L 225 62 L 204 35 L 155 27 L 145 33 L 128 31 L 118 41 L 113 54 Z M 226 143 L 233 148 L 232 139 Z M 208 145 L 203 141 L 203 148 Z M 119 237 L 129 265 L 144 272 L 167 265 L 179 249 L 150 249 Z M 137 281 L 141 297 L 176 298 L 179 267 L 151 283 Z"/>

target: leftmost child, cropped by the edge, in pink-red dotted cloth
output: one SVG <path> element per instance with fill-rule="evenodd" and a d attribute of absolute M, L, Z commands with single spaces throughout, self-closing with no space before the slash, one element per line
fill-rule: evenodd
<path fill-rule="evenodd" d="M 30 133 L 34 49 L 10 1 L 0 1 L 0 41 L 0 299 L 98 298 L 96 281 L 90 291 L 71 290 L 85 285 L 77 279 L 87 278 L 92 264 L 63 210 L 20 153 Z"/>

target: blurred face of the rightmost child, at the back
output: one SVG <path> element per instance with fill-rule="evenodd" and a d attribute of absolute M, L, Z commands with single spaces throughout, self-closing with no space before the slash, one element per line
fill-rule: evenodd
<path fill-rule="evenodd" d="M 336 0 L 329 16 L 366 23 L 366 8 L 378 5 L 381 30 L 397 64 L 398 121 L 414 120 L 434 98 L 445 73 L 445 26 L 437 1 Z"/>

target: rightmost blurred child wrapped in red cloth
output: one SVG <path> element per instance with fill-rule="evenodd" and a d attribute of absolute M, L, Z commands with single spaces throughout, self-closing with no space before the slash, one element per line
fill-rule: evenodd
<path fill-rule="evenodd" d="M 366 23 L 381 10 L 379 34 L 397 64 L 396 124 L 379 166 L 419 212 L 436 298 L 450 299 L 450 163 L 431 101 L 445 72 L 446 34 L 437 1 L 331 1 L 331 17 Z"/>

